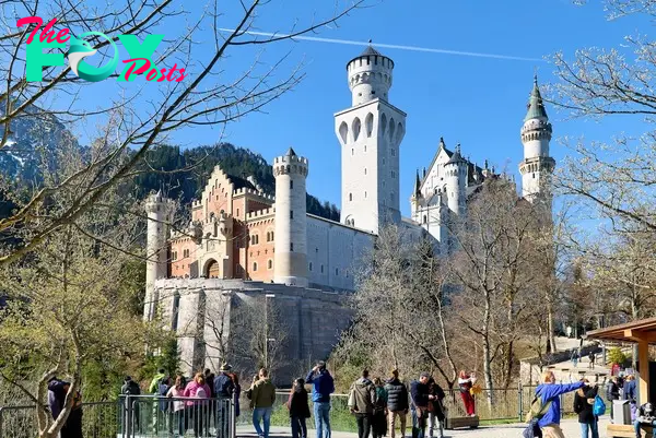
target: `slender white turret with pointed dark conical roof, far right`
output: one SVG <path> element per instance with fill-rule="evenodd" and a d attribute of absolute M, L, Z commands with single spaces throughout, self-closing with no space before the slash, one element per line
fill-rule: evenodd
<path fill-rule="evenodd" d="M 522 127 L 524 161 L 519 163 L 522 174 L 522 196 L 530 202 L 539 197 L 548 203 L 551 211 L 551 175 L 555 161 L 549 156 L 551 123 L 542 103 L 538 76 L 534 79 L 534 88 L 528 100 L 528 111 Z"/>

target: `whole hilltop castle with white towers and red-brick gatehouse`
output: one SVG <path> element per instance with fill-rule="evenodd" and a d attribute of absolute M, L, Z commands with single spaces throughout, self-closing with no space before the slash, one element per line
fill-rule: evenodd
<path fill-rule="evenodd" d="M 485 178 L 496 177 L 487 162 L 479 167 L 462 156 L 459 145 L 452 150 L 441 139 L 433 161 L 415 177 L 411 217 L 401 216 L 401 193 L 410 188 L 401 190 L 399 184 L 406 113 L 388 97 L 394 67 L 371 46 L 347 63 L 352 102 L 335 114 L 342 164 L 340 222 L 306 212 L 312 163 L 291 147 L 273 159 L 276 193 L 265 193 L 257 180 L 227 175 L 218 166 L 202 197 L 190 205 L 191 222 L 184 232 L 169 232 L 168 200 L 159 193 L 149 198 L 144 317 L 161 318 L 178 331 L 189 370 L 216 369 L 224 359 L 213 345 L 224 341 L 215 339 L 218 317 L 207 309 L 221 307 L 230 327 L 230 310 L 258 296 L 282 309 L 291 360 L 327 356 L 350 321 L 343 294 L 355 288 L 359 259 L 380 227 L 395 223 L 432 236 L 440 246 L 448 238 L 446 215 L 467 214 L 468 197 Z M 555 165 L 537 79 L 520 139 L 522 192 L 532 201 Z"/>

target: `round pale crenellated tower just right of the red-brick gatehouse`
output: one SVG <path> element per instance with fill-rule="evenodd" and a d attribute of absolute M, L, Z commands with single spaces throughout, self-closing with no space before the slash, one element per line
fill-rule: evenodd
<path fill-rule="evenodd" d="M 276 177 L 276 283 L 307 286 L 307 158 L 290 147 L 273 161 Z"/>

